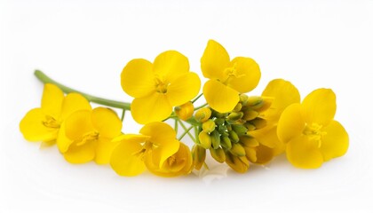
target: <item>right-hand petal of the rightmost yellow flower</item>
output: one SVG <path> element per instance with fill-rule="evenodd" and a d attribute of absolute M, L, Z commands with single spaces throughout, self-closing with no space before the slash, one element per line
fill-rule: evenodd
<path fill-rule="evenodd" d="M 326 132 L 326 135 L 322 137 L 320 147 L 325 162 L 340 157 L 347 152 L 348 134 L 339 122 L 330 122 L 322 131 Z"/>

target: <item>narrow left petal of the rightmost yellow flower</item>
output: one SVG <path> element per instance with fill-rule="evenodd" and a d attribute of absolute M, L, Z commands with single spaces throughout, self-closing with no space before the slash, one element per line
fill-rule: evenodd
<path fill-rule="evenodd" d="M 305 122 L 300 114 L 300 104 L 292 104 L 283 111 L 277 123 L 277 136 L 282 143 L 288 143 L 292 138 L 302 134 Z"/>

